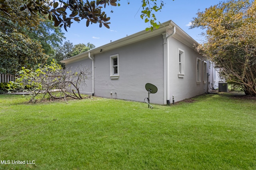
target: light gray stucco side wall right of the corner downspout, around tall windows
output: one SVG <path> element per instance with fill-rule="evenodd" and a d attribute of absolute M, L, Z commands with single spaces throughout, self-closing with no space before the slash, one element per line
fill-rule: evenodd
<path fill-rule="evenodd" d="M 184 77 L 178 77 L 178 49 L 184 50 Z M 203 59 L 200 54 L 184 45 L 175 38 L 169 39 L 170 52 L 170 102 L 172 103 L 172 95 L 176 102 L 186 98 L 203 94 L 205 92 L 203 81 L 204 67 Z M 201 82 L 196 82 L 197 74 L 197 58 L 201 60 Z"/>

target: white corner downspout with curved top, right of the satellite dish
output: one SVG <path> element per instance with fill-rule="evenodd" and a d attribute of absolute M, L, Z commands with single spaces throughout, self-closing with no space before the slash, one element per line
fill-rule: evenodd
<path fill-rule="evenodd" d="M 165 44 L 167 46 L 167 60 L 166 60 L 166 104 L 170 105 L 170 64 L 169 64 L 169 44 L 168 44 L 168 38 L 172 37 L 176 33 L 176 27 L 172 27 L 172 33 L 166 37 Z"/>

